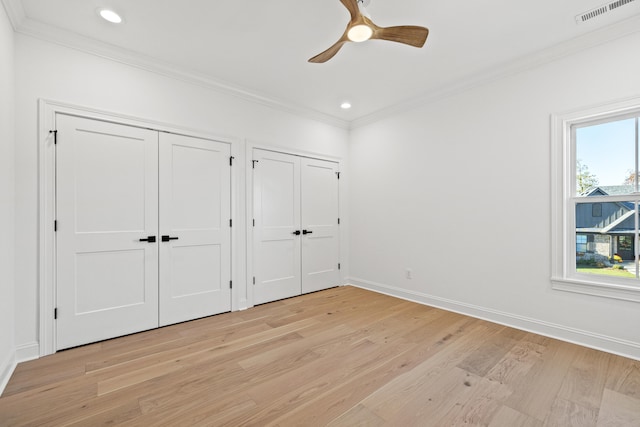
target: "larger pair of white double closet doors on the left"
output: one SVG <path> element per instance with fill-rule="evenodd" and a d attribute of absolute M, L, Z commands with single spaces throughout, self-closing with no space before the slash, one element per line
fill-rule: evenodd
<path fill-rule="evenodd" d="M 56 347 L 229 311 L 229 146 L 64 114 L 56 127 Z"/>

